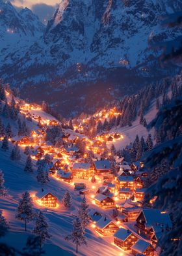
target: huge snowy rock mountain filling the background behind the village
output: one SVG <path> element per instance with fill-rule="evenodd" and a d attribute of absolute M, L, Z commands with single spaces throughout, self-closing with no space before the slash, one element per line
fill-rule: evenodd
<path fill-rule="evenodd" d="M 54 102 L 64 115 L 72 106 L 71 114 L 93 112 L 166 74 L 156 61 L 161 50 L 149 43 L 180 35 L 179 28 L 161 27 L 161 16 L 180 8 L 179 0 L 62 0 L 41 39 L 3 54 L 0 74 L 14 86 L 20 82 L 23 97 Z"/>

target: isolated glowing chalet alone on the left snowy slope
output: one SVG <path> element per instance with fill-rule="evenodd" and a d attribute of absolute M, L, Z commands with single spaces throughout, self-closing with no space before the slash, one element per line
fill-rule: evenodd
<path fill-rule="evenodd" d="M 53 193 L 42 189 L 42 191 L 36 193 L 35 197 L 38 204 L 42 206 L 51 208 L 57 207 L 57 197 L 53 195 Z"/>

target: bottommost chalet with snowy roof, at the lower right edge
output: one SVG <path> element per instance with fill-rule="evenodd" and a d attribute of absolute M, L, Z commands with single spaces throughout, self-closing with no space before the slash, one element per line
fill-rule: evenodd
<path fill-rule="evenodd" d="M 131 247 L 131 249 L 133 255 L 138 255 L 138 253 L 142 253 L 146 256 L 153 256 L 155 251 L 155 248 L 153 248 L 151 244 L 140 239 L 136 242 L 136 244 Z"/>

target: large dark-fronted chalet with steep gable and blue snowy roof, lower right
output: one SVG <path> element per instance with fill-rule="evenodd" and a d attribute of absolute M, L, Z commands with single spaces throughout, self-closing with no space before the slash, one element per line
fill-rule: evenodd
<path fill-rule="evenodd" d="M 161 214 L 157 209 L 142 209 L 136 218 L 136 229 L 140 234 L 146 234 L 148 238 L 153 235 L 153 228 L 171 229 L 172 222 L 168 214 Z"/>

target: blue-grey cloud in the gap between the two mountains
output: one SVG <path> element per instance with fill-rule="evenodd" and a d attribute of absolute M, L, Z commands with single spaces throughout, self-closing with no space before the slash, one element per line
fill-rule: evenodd
<path fill-rule="evenodd" d="M 45 5 L 44 3 L 38 3 L 31 7 L 32 12 L 34 12 L 34 14 L 36 14 L 45 24 L 47 23 L 47 20 L 51 18 L 55 9 L 56 6 Z"/>

